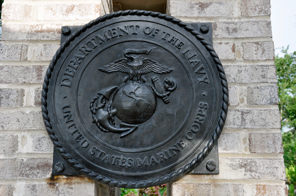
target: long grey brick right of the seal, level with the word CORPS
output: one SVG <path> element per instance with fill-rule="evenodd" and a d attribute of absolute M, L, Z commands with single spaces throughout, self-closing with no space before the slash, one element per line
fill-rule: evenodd
<path fill-rule="evenodd" d="M 228 110 L 225 128 L 280 129 L 280 112 L 278 109 Z"/>

